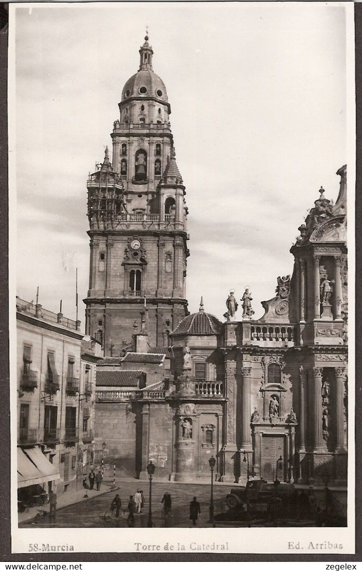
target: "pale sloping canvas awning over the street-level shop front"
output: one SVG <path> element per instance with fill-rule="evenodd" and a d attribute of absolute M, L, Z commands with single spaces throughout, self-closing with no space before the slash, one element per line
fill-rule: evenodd
<path fill-rule="evenodd" d="M 39 448 L 18 447 L 18 488 L 58 480 L 58 469 L 50 463 Z"/>

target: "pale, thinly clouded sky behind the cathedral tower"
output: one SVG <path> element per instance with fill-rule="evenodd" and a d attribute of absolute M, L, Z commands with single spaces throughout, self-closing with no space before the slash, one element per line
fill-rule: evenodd
<path fill-rule="evenodd" d="M 325 3 L 11 5 L 16 14 L 17 295 L 75 319 L 89 276 L 87 175 L 103 159 L 145 26 L 166 85 L 190 234 L 187 297 L 255 317 L 291 274 L 307 209 L 346 159 L 345 9 Z M 237 313 L 241 319 L 241 311 Z M 79 308 L 84 327 L 84 304 Z"/>

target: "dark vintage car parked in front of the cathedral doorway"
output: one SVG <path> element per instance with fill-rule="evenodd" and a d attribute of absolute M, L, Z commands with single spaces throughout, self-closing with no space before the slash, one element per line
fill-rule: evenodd
<path fill-rule="evenodd" d="M 263 502 L 269 500 L 274 494 L 278 497 L 289 496 L 294 491 L 293 484 L 278 482 L 278 484 L 267 482 L 266 480 L 249 480 L 246 486 L 231 488 L 230 493 L 225 498 L 228 508 L 236 508 L 238 505 L 247 502 Z"/>

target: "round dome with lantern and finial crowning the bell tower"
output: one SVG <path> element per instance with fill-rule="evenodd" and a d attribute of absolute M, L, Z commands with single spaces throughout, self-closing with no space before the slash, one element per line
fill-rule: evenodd
<path fill-rule="evenodd" d="M 140 69 L 125 82 L 122 90 L 122 102 L 133 97 L 153 98 L 162 103 L 168 103 L 164 82 L 152 69 L 152 47 L 145 37 L 144 45 L 140 49 Z"/>

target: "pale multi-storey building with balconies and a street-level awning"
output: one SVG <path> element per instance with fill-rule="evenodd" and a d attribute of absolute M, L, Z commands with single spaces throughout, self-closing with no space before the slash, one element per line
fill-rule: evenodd
<path fill-rule="evenodd" d="M 99 341 L 80 321 L 17 297 L 18 487 L 21 505 L 83 483 L 94 455 Z M 90 435 L 92 437 L 90 438 Z"/>

